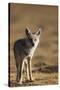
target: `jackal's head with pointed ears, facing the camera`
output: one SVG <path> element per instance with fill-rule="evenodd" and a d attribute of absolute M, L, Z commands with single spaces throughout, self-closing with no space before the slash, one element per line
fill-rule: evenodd
<path fill-rule="evenodd" d="M 37 45 L 39 43 L 41 28 L 39 28 L 38 31 L 34 33 L 32 33 L 29 28 L 26 28 L 25 32 L 26 32 L 27 38 L 31 41 L 32 46 Z"/>

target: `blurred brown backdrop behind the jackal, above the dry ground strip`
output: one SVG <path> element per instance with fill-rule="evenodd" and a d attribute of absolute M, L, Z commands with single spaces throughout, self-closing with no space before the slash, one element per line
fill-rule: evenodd
<path fill-rule="evenodd" d="M 52 67 L 58 71 L 58 7 L 10 4 L 10 72 L 16 71 L 14 42 L 25 37 L 25 28 L 32 32 L 42 27 L 40 43 L 32 59 L 34 68 Z"/>

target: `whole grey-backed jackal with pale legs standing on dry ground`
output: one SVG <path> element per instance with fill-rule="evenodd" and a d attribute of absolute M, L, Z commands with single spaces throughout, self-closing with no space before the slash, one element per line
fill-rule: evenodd
<path fill-rule="evenodd" d="M 32 33 L 29 28 L 25 30 L 26 38 L 19 39 L 14 43 L 14 56 L 16 61 L 17 76 L 16 81 L 22 83 L 22 74 L 24 65 L 27 66 L 27 79 L 33 80 L 32 69 L 31 69 L 31 59 L 33 57 L 34 51 L 39 43 L 39 38 L 41 35 L 41 28 L 35 33 Z"/>

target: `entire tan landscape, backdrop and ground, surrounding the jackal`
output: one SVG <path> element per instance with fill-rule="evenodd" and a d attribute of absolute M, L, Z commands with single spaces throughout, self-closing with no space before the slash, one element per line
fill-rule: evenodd
<path fill-rule="evenodd" d="M 10 86 L 16 83 L 14 42 L 25 37 L 28 26 L 36 32 L 42 26 L 40 43 L 32 59 L 34 81 L 24 80 L 22 86 L 58 84 L 58 7 L 10 4 Z"/>

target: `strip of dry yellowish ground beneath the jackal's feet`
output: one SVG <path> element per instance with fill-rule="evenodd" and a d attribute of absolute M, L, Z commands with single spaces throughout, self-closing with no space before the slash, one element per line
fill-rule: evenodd
<path fill-rule="evenodd" d="M 15 80 L 15 74 L 11 73 L 11 81 L 10 86 L 16 87 L 16 86 L 36 86 L 36 85 L 55 85 L 58 84 L 57 82 L 57 73 L 42 73 L 42 72 L 35 72 L 33 73 L 34 81 L 30 82 L 27 81 L 26 76 L 24 75 L 23 83 L 22 85 L 18 84 Z"/>

